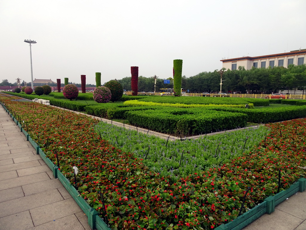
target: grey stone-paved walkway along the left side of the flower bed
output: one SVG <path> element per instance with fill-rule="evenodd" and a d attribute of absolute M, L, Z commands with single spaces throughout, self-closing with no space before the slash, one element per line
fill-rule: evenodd
<path fill-rule="evenodd" d="M 2 107 L 0 229 L 91 229 L 84 212 Z"/>

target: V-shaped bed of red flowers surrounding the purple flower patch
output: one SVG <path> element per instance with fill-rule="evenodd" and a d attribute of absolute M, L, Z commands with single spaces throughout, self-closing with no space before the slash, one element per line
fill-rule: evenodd
<path fill-rule="evenodd" d="M 304 176 L 305 119 L 270 124 L 271 134 L 252 151 L 173 181 L 103 140 L 103 133 L 94 131 L 97 120 L 6 97 L 1 101 L 25 121 L 24 128 L 55 164 L 57 152 L 60 170 L 71 182 L 72 167 L 79 168 L 79 193 L 98 212 L 101 192 L 114 230 L 212 229 L 237 217 L 248 187 L 245 208 L 275 194 L 278 169 L 281 190 Z"/>

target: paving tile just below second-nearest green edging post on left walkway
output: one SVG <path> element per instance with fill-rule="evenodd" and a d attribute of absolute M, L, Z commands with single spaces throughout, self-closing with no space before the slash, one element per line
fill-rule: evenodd
<path fill-rule="evenodd" d="M 34 174 L 36 175 L 36 174 Z M 28 185 L 23 185 L 22 189 L 25 196 L 42 193 L 51 189 L 57 189 L 63 187 L 62 183 L 58 179 L 40 181 Z"/>

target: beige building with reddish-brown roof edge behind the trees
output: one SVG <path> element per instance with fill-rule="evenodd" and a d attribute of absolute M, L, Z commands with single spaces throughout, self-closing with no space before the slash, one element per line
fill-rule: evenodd
<path fill-rule="evenodd" d="M 269 66 L 288 67 L 290 64 L 303 65 L 306 63 L 306 49 L 293 50 L 288 53 L 269 54 L 257 57 L 240 57 L 223 59 L 222 68 L 236 70 L 239 66 L 244 66 L 246 70 L 255 68 L 268 68 Z"/>

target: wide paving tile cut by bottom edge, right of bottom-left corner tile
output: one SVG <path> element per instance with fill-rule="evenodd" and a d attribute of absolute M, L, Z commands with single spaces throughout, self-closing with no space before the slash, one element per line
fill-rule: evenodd
<path fill-rule="evenodd" d="M 52 220 L 45 224 L 35 226 L 34 228 L 29 228 L 27 230 L 84 230 L 80 221 L 76 218 L 74 214 L 63 217 L 57 220 Z"/>

